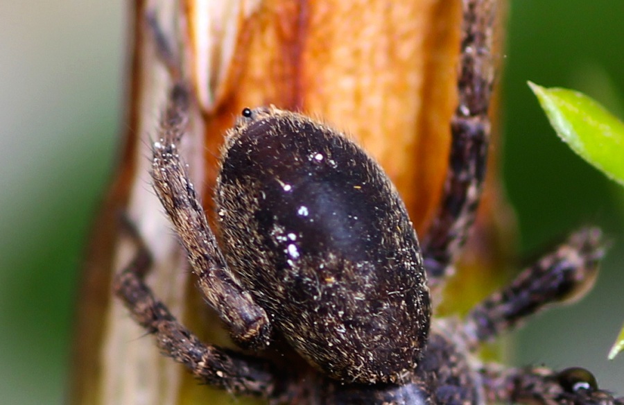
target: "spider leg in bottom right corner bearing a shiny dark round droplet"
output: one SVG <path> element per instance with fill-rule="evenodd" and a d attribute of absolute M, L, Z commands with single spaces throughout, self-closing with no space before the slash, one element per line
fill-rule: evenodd
<path fill-rule="evenodd" d="M 488 404 L 624 405 L 624 397 L 600 390 L 593 375 L 582 368 L 557 372 L 488 364 L 481 374 Z"/>

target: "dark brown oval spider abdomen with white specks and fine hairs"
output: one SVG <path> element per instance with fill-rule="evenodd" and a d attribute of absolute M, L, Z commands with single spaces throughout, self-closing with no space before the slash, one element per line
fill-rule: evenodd
<path fill-rule="evenodd" d="M 226 260 L 270 321 L 341 381 L 402 381 L 430 303 L 403 202 L 380 167 L 327 126 L 245 110 L 216 189 Z"/>

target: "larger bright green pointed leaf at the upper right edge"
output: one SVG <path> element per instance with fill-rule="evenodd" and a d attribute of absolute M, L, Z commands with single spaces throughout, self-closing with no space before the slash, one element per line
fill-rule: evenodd
<path fill-rule="evenodd" d="M 528 85 L 557 135 L 580 157 L 624 186 L 624 123 L 580 92 Z"/>

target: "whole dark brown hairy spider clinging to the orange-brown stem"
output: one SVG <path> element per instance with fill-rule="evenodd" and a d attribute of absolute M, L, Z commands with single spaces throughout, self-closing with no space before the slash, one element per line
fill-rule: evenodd
<path fill-rule="evenodd" d="M 493 14 L 483 4 L 491 6 L 464 1 L 449 170 L 422 248 L 376 162 L 347 135 L 273 106 L 245 108 L 227 132 L 217 237 L 177 152 L 193 98 L 184 83 L 173 87 L 153 143 L 154 189 L 241 351 L 202 343 L 153 295 L 150 252 L 128 223 L 139 254 L 114 290 L 164 354 L 204 384 L 271 404 L 624 404 L 581 368 L 503 368 L 475 356 L 530 314 L 587 290 L 604 253 L 596 228 L 573 233 L 465 318 L 431 316 L 485 175 L 494 74 L 485 35 Z"/>

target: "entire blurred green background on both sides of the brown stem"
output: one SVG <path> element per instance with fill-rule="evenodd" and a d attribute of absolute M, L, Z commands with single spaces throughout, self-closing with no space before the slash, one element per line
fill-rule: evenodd
<path fill-rule="evenodd" d="M 0 393 L 62 404 L 89 224 L 118 145 L 123 2 L 0 2 Z M 624 395 L 624 193 L 573 155 L 526 86 L 580 89 L 624 117 L 624 1 L 513 0 L 503 108 L 505 187 L 524 254 L 576 225 L 614 241 L 593 292 L 519 334 L 515 363 L 581 365 Z M 623 157 L 624 159 L 624 157 Z"/>

